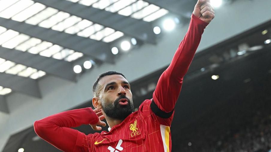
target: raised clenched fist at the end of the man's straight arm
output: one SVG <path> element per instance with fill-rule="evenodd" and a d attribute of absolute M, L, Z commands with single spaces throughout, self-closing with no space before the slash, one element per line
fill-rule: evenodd
<path fill-rule="evenodd" d="M 214 19 L 214 7 L 210 0 L 198 0 L 193 14 L 206 23 L 210 23 Z"/>

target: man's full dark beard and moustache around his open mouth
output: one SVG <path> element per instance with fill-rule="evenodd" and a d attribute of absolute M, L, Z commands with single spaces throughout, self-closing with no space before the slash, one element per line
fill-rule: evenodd
<path fill-rule="evenodd" d="M 127 99 L 127 105 L 120 105 L 120 99 Z M 102 101 L 102 108 L 106 114 L 106 116 L 118 120 L 124 120 L 127 116 L 134 112 L 134 104 L 133 99 L 128 99 L 126 96 L 119 96 L 118 99 L 114 101 L 112 104 L 111 102 L 104 102 Z"/>

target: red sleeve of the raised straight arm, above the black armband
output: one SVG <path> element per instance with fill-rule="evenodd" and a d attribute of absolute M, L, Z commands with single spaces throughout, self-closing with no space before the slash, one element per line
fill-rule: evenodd
<path fill-rule="evenodd" d="M 171 112 L 174 109 L 181 91 L 183 77 L 187 73 L 207 25 L 208 23 L 192 14 L 188 31 L 169 67 L 160 76 L 153 93 L 153 100 L 162 111 Z"/>

